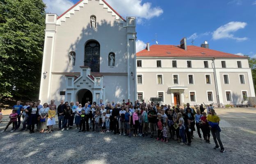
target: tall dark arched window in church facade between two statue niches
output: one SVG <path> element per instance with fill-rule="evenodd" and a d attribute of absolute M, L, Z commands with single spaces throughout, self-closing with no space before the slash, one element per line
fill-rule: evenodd
<path fill-rule="evenodd" d="M 89 66 L 91 72 L 100 72 L 100 44 L 97 41 L 86 43 L 84 66 Z"/>

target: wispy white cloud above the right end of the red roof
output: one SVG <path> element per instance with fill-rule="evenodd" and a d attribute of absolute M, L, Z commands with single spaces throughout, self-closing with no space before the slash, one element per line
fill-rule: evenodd
<path fill-rule="evenodd" d="M 248 39 L 247 37 L 239 38 L 239 37 L 235 37 L 231 33 L 236 32 L 239 29 L 245 28 L 246 25 L 247 23 L 245 22 L 229 22 L 226 25 L 220 26 L 219 28 L 217 28 L 217 30 L 213 32 L 213 39 L 217 40 L 217 39 L 229 38 L 229 39 L 235 39 L 236 41 L 245 41 Z"/>

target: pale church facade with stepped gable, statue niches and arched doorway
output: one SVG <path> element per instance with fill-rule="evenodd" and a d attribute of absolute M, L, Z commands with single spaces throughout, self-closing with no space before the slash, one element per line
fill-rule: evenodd
<path fill-rule="evenodd" d="M 135 100 L 135 22 L 104 0 L 80 0 L 60 16 L 46 14 L 39 99 Z"/>

